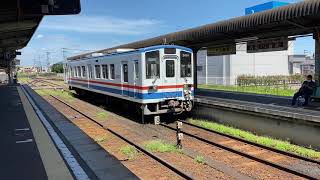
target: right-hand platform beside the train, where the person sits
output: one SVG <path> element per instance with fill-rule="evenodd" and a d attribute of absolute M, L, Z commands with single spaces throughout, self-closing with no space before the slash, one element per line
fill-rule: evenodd
<path fill-rule="evenodd" d="M 252 93 L 198 89 L 199 101 L 212 100 L 239 110 L 248 110 L 320 123 L 320 103 L 310 102 L 306 107 L 292 107 L 291 97 Z"/>

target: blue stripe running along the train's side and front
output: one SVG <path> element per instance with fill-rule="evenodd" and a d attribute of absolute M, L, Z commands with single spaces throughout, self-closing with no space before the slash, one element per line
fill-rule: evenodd
<path fill-rule="evenodd" d="M 70 84 L 79 85 L 85 88 L 88 88 L 88 85 L 77 83 L 77 82 L 69 82 Z M 100 91 L 105 91 L 109 93 L 119 94 L 119 95 L 126 95 L 130 97 L 135 97 L 137 99 L 161 99 L 161 98 L 176 98 L 182 97 L 182 91 L 174 91 L 174 92 L 157 92 L 157 93 L 134 93 L 132 91 L 122 91 L 119 89 L 113 89 L 103 86 L 96 86 L 96 85 L 89 85 L 89 88 L 96 89 Z"/>

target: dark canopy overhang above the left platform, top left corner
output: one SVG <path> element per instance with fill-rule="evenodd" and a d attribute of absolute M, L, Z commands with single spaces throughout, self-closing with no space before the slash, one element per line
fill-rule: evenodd
<path fill-rule="evenodd" d="M 0 68 L 25 47 L 45 15 L 77 14 L 80 0 L 2 0 L 0 2 Z"/>

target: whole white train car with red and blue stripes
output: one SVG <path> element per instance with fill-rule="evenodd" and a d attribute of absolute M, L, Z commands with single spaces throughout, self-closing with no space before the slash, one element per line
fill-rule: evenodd
<path fill-rule="evenodd" d="M 153 46 L 66 63 L 70 89 L 82 89 L 135 102 L 145 115 L 192 109 L 192 50 Z"/>

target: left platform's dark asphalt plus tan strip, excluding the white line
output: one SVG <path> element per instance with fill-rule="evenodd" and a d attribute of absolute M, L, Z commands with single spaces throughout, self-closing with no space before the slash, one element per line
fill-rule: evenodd
<path fill-rule="evenodd" d="M 0 179 L 73 179 L 20 86 L 0 85 Z"/>

